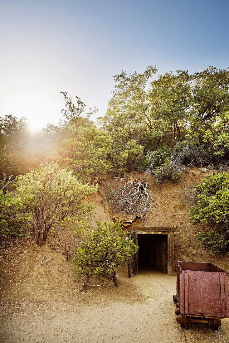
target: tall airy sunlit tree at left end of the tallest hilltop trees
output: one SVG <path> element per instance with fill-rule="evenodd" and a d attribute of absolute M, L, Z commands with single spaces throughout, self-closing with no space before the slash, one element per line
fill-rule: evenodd
<path fill-rule="evenodd" d="M 153 140 L 152 134 L 161 137 L 160 130 L 154 130 L 148 123 L 148 82 L 156 72 L 156 66 L 148 66 L 142 74 L 127 75 L 122 71 L 114 76 L 116 85 L 112 98 L 106 115 L 98 118 L 98 123 L 111 134 L 117 149 L 132 139 L 144 146 Z"/>

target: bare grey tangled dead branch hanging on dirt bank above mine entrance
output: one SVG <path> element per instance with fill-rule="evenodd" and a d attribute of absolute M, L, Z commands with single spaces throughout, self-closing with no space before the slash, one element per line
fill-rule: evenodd
<path fill-rule="evenodd" d="M 113 204 L 114 211 L 120 214 L 136 214 L 146 220 L 152 207 L 150 200 L 155 204 L 156 202 L 151 198 L 150 186 L 145 179 L 121 174 L 115 176 L 111 180 L 111 183 L 113 182 L 124 182 L 108 194 L 107 200 Z"/>

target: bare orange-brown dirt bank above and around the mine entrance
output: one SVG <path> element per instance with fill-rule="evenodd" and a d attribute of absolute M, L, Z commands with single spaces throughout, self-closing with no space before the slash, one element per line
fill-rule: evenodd
<path fill-rule="evenodd" d="M 96 221 L 104 220 L 111 222 L 115 217 L 121 219 L 125 225 L 128 224 L 125 227 L 130 230 L 136 226 L 176 227 L 174 238 L 175 260 L 212 262 L 228 270 L 229 256 L 227 254 L 220 254 L 217 257 L 210 256 L 202 248 L 201 244 L 196 241 L 196 227 L 192 227 L 189 223 L 187 216 L 188 204 L 182 196 L 184 188 L 197 185 L 202 178 L 207 174 L 213 174 L 213 172 L 213 170 L 208 170 L 203 173 L 201 168 L 189 168 L 183 173 L 181 182 L 167 182 L 167 184 L 160 186 L 155 185 L 154 180 L 145 177 L 144 174 L 133 173 L 132 175 L 135 177 L 145 177 L 150 185 L 152 198 L 156 202 L 156 205 L 152 202 L 152 209 L 145 222 L 136 216 L 121 216 L 113 213 L 110 204 L 106 201 L 107 187 L 104 184 L 108 183 L 112 178 L 112 176 L 107 176 L 103 183 L 99 185 L 99 192 L 93 194 L 90 198 L 90 201 L 97 206 L 93 214 L 93 224 L 95 225 Z M 113 188 L 118 186 L 120 184 L 116 183 Z"/>

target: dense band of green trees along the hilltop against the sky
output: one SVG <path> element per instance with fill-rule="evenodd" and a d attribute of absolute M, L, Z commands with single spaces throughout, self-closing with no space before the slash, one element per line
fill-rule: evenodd
<path fill-rule="evenodd" d="M 108 109 L 91 120 L 80 97 L 66 92 L 63 119 L 31 133 L 24 118 L 0 118 L 1 178 L 30 172 L 41 162 L 57 162 L 79 180 L 96 183 L 108 172 L 145 171 L 148 153 L 165 154 L 151 175 L 157 183 L 179 180 L 182 165 L 226 163 L 229 158 L 229 70 L 209 67 L 114 76 Z M 180 155 L 178 156 L 178 154 Z M 166 156 L 165 156 L 166 155 Z"/>

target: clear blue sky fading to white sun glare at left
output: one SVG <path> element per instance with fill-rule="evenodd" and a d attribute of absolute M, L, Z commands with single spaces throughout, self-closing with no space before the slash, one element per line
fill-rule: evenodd
<path fill-rule="evenodd" d="M 0 0 L 0 117 L 58 123 L 61 91 L 106 112 L 121 70 L 229 65 L 229 0 Z"/>

